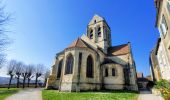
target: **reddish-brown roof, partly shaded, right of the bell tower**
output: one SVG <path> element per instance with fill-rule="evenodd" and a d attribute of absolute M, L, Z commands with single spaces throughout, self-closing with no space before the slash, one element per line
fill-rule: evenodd
<path fill-rule="evenodd" d="M 108 48 L 109 56 L 124 55 L 130 53 L 130 47 L 128 44 L 113 46 Z"/>

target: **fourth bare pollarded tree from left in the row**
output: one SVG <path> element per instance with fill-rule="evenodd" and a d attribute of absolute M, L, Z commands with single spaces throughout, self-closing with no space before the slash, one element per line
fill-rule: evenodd
<path fill-rule="evenodd" d="M 34 73 L 34 69 L 35 69 L 35 66 L 34 65 L 28 65 L 28 74 L 27 74 L 27 79 L 28 79 L 28 83 L 27 83 L 27 86 L 29 87 L 29 84 L 30 84 L 30 81 L 31 81 L 31 78 L 33 78 L 33 73 Z"/>

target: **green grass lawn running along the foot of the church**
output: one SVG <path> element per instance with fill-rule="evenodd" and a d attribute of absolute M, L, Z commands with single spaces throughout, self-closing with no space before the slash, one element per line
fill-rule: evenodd
<path fill-rule="evenodd" d="M 43 100 L 137 100 L 138 93 L 113 92 L 58 92 L 57 90 L 43 90 Z"/>

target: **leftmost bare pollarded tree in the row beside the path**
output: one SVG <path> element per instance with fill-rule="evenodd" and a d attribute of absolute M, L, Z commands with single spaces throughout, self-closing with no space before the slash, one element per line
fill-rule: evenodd
<path fill-rule="evenodd" d="M 16 67 L 17 62 L 15 60 L 11 60 L 7 66 L 7 74 L 10 75 L 10 80 L 8 84 L 8 89 L 10 88 L 12 78 L 14 76 L 14 69 Z"/>

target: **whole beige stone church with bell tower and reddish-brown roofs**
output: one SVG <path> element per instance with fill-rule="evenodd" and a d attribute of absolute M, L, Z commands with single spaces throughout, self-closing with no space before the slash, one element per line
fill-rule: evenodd
<path fill-rule="evenodd" d="M 138 91 L 130 42 L 112 46 L 106 20 L 94 15 L 86 34 L 55 56 L 47 89 L 59 91 Z"/>

